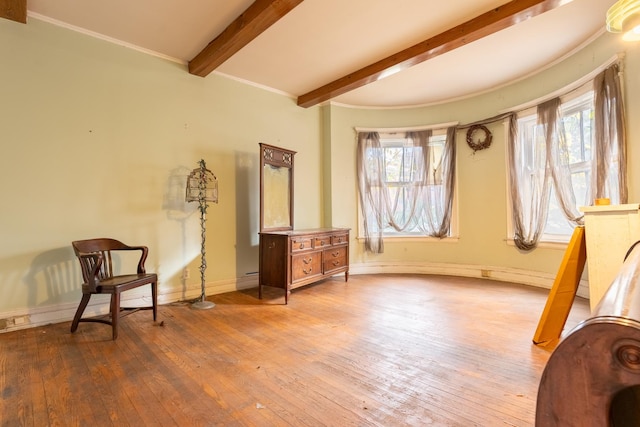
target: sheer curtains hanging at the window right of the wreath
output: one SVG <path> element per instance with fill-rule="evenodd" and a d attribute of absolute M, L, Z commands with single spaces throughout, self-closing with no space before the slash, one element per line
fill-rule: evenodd
<path fill-rule="evenodd" d="M 624 113 L 617 64 L 596 76 L 594 91 L 592 192 L 596 198 L 609 197 L 612 203 L 625 203 Z M 527 251 L 538 245 L 543 234 L 552 188 L 565 217 L 575 225 L 583 222 L 571 184 L 559 98 L 538 106 L 537 126 L 539 136 L 534 141 L 533 161 L 530 168 L 523 167 L 521 159 L 526 155 L 525 150 L 531 150 L 531 147 L 518 137 L 516 114 L 509 116 L 507 146 L 514 242 L 518 248 Z M 612 159 L 616 161 L 611 162 Z M 611 169 L 611 165 L 615 168 Z M 592 197 L 588 195 L 587 200 L 592 200 Z"/>

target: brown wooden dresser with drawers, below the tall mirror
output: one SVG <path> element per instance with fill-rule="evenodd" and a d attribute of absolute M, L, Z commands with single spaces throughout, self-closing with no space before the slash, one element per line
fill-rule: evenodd
<path fill-rule="evenodd" d="M 285 304 L 292 289 L 344 273 L 349 280 L 349 229 L 263 231 L 260 233 L 262 287 L 285 290 Z"/>

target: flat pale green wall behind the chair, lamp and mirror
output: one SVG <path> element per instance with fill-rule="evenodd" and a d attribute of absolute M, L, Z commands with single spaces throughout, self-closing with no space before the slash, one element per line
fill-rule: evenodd
<path fill-rule="evenodd" d="M 199 213 L 184 182 L 201 158 L 219 181 L 214 290 L 258 269 L 259 142 L 299 152 L 295 226 L 321 223 L 320 108 L 35 19 L 0 19 L 0 55 L 0 318 L 75 307 L 75 239 L 148 245 L 165 300 L 197 291 Z"/>

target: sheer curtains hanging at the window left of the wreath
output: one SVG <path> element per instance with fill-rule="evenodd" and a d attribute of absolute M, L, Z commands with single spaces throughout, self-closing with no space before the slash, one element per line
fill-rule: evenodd
<path fill-rule="evenodd" d="M 431 131 L 408 132 L 416 150 L 408 150 L 405 170 L 410 185 L 390 188 L 385 179 L 384 148 L 377 132 L 358 133 L 358 190 L 364 218 L 365 249 L 383 253 L 383 232 L 418 229 L 433 237 L 446 237 L 451 224 L 455 188 L 455 127 L 447 129 L 444 151 L 437 164 L 429 145 Z M 400 215 L 400 214 L 404 215 Z"/>

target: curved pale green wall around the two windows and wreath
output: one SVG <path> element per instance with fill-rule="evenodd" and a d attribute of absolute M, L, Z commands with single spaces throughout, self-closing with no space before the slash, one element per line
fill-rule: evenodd
<path fill-rule="evenodd" d="M 565 61 L 526 80 L 473 98 L 436 106 L 372 110 L 339 106 L 325 113 L 331 120 L 333 224 L 357 230 L 357 189 L 355 175 L 355 127 L 406 127 L 446 122 L 460 124 L 490 118 L 510 107 L 552 93 L 589 74 L 619 52 L 626 52 L 624 84 L 627 92 L 629 125 L 630 202 L 640 201 L 638 163 L 640 125 L 633 117 L 640 113 L 640 55 L 638 44 L 622 44 L 611 34 L 595 42 Z M 482 69 L 478 68 L 478 73 Z M 478 269 L 492 267 L 522 269 L 555 274 L 564 246 L 542 247 L 532 252 L 519 251 L 508 245 L 506 148 L 502 123 L 489 126 L 493 144 L 475 154 L 465 142 L 464 131 L 458 133 L 458 213 L 459 235 L 455 243 L 442 241 L 387 241 L 385 253 L 364 252 L 361 241 L 353 241 L 352 263 L 422 262 L 474 265 Z M 345 185 L 345 183 L 351 183 Z M 355 234 L 355 233 L 354 233 Z"/>

